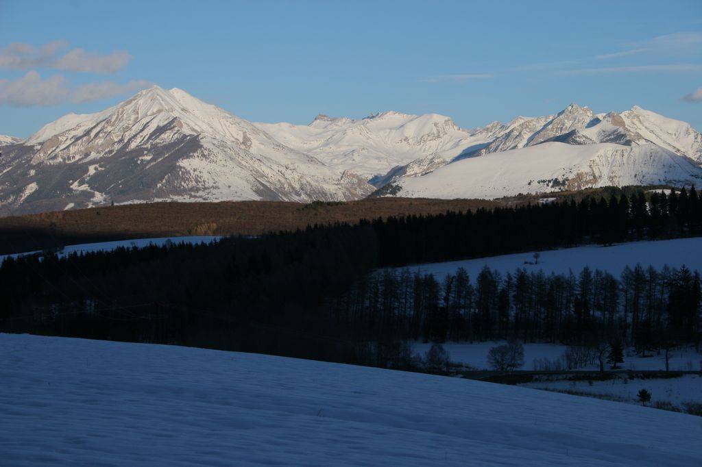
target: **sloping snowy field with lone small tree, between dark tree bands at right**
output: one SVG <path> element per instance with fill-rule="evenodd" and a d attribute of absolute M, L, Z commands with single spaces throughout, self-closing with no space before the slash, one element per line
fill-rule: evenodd
<path fill-rule="evenodd" d="M 418 264 L 409 266 L 409 270 L 434 274 L 439 280 L 442 280 L 446 274 L 455 274 L 461 267 L 475 280 L 484 266 L 496 269 L 500 273 L 514 273 L 518 268 L 525 268 L 527 271 L 541 270 L 547 274 L 567 274 L 569 271 L 577 274 L 585 266 L 589 266 L 593 271 L 595 269 L 609 271 L 614 276 L 619 276 L 624 266 L 634 267 L 637 264 L 641 264 L 644 268 L 654 266 L 656 269 L 661 269 L 666 264 L 675 268 L 684 264 L 693 271 L 695 269 L 702 271 L 702 237 L 630 242 L 612 246 L 588 245 L 542 251 L 540 255 L 538 264 L 524 264 L 524 262 L 534 262 L 533 252 L 529 252 L 464 261 Z"/>

